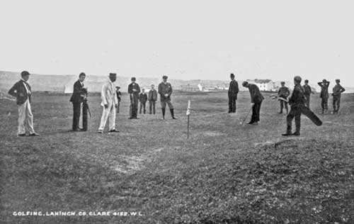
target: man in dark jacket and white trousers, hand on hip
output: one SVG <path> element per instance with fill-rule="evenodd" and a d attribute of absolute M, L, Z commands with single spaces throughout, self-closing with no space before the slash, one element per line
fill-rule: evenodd
<path fill-rule="evenodd" d="M 16 82 L 8 94 L 16 97 L 18 108 L 18 136 L 38 136 L 33 129 L 33 114 L 30 109 L 30 96 L 32 94 L 30 85 L 28 84 L 30 73 L 27 71 L 21 72 L 21 80 Z"/>

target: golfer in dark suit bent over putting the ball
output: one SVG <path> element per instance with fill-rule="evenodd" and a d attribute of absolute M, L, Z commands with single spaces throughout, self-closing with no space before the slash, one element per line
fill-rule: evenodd
<path fill-rule="evenodd" d="M 251 94 L 252 117 L 248 124 L 257 125 L 260 117 L 259 113 L 261 112 L 261 104 L 264 97 L 256 84 L 249 84 L 249 82 L 245 81 L 242 83 L 242 86 L 249 88 L 249 93 Z"/>

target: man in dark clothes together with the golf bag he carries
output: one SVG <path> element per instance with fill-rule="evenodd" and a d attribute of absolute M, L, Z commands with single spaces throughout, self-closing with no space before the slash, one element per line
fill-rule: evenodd
<path fill-rule="evenodd" d="M 305 106 L 306 97 L 304 96 L 304 88 L 301 86 L 301 77 L 294 77 L 295 87 L 292 91 L 292 96 L 290 96 L 290 113 L 287 115 L 287 132 L 282 134 L 283 136 L 287 135 L 300 135 L 301 127 L 301 114 L 310 118 L 312 122 L 316 125 L 322 125 L 322 121 L 307 107 Z M 295 118 L 295 133 L 292 133 L 292 119 Z"/>

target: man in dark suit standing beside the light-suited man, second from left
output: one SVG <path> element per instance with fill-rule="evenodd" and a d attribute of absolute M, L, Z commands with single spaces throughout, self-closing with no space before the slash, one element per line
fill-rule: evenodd
<path fill-rule="evenodd" d="M 81 72 L 79 74 L 79 80 L 74 83 L 74 91 L 72 92 L 72 97 L 70 98 L 70 102 L 72 102 L 72 108 L 74 114 L 72 116 L 72 130 L 79 131 L 79 121 L 80 121 L 80 111 L 81 111 L 81 103 L 84 100 L 84 80 L 86 78 L 86 74 Z"/>

